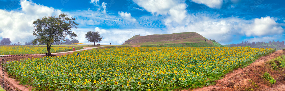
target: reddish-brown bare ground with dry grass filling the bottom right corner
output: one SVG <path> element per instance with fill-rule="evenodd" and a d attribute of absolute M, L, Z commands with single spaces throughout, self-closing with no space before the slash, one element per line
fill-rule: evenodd
<path fill-rule="evenodd" d="M 285 88 L 285 69 L 279 68 L 278 70 L 273 70 L 272 65 L 269 62 L 284 54 L 285 52 L 279 50 L 268 56 L 261 57 L 241 71 L 235 70 L 232 73 L 228 73 L 223 79 L 216 81 L 216 85 L 195 89 L 195 91 L 285 90 L 283 89 Z M 239 73 L 236 74 L 236 72 Z M 264 79 L 263 74 L 266 72 L 275 79 L 275 84 L 270 84 L 268 80 Z"/>

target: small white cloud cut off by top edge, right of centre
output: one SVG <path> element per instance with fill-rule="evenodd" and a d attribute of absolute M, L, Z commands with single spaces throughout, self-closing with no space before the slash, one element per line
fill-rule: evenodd
<path fill-rule="evenodd" d="M 199 4 L 204 4 L 210 8 L 221 8 L 221 6 L 223 5 L 223 0 L 192 0 L 192 1 Z"/>

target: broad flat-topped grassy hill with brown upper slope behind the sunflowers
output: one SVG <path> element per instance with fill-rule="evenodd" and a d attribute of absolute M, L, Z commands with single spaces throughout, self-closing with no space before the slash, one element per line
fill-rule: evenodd
<path fill-rule="evenodd" d="M 208 40 L 198 33 L 186 32 L 147 36 L 135 35 L 122 45 L 142 45 L 141 47 L 216 47 L 221 44 Z"/>

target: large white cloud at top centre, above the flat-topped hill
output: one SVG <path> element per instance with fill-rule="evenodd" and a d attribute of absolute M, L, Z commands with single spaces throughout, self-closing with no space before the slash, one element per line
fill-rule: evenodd
<path fill-rule="evenodd" d="M 133 0 L 137 5 L 143 7 L 152 14 L 169 15 L 164 20 L 165 25 L 169 23 L 181 24 L 186 17 L 186 4 L 183 0 Z"/>

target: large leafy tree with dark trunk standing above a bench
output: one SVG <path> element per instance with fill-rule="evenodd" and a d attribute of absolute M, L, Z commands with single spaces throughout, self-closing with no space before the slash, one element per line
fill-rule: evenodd
<path fill-rule="evenodd" d="M 66 14 L 61 14 L 58 17 L 49 16 L 42 19 L 37 19 L 33 22 L 34 36 L 33 44 L 39 44 L 47 46 L 48 55 L 50 55 L 50 47 L 52 43 L 63 43 L 66 35 L 70 38 L 77 37 L 77 35 L 71 31 L 71 28 L 77 28 L 78 24 L 75 23 L 75 18 L 68 18 Z"/>

